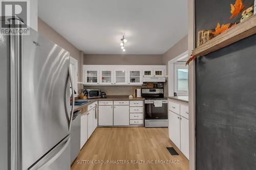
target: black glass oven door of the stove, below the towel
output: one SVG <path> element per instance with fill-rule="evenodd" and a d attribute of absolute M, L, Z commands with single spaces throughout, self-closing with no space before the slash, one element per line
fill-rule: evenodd
<path fill-rule="evenodd" d="M 168 119 L 168 105 L 163 103 L 162 107 L 155 107 L 154 104 L 146 104 L 145 119 Z"/>

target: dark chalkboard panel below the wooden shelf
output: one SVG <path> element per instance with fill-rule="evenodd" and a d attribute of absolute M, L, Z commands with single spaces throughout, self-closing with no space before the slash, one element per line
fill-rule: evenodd
<path fill-rule="evenodd" d="M 196 60 L 196 169 L 256 169 L 256 35 Z"/>

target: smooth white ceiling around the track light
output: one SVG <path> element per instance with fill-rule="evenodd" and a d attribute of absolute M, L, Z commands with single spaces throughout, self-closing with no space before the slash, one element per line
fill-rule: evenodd
<path fill-rule="evenodd" d="M 163 54 L 188 32 L 187 0 L 38 0 L 38 17 L 85 54 Z"/>

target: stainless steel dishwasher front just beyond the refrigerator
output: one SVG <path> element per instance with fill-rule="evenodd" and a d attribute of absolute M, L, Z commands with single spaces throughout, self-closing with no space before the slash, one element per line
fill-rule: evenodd
<path fill-rule="evenodd" d="M 73 114 L 71 132 L 70 132 L 70 145 L 71 145 L 71 162 L 72 164 L 80 152 L 80 127 L 81 127 L 81 111 L 77 110 Z"/>

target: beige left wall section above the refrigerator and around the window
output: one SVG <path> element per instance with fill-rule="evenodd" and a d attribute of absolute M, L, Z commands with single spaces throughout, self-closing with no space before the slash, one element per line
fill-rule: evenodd
<path fill-rule="evenodd" d="M 78 81 L 82 81 L 82 60 L 83 54 L 59 33 L 53 30 L 46 22 L 38 18 L 38 32 L 70 52 L 70 56 L 78 60 Z"/>

